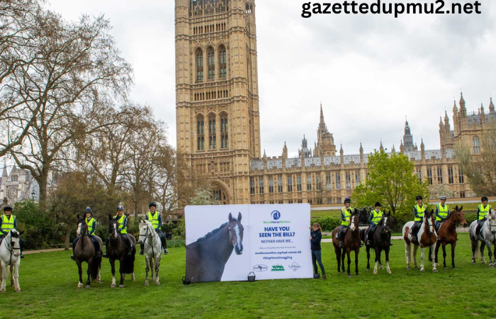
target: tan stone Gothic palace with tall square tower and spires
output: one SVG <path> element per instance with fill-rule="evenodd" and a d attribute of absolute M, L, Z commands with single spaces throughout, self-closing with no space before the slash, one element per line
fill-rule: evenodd
<path fill-rule="evenodd" d="M 361 145 L 356 155 L 337 150 L 322 106 L 313 150 L 303 138 L 298 157 L 288 158 L 286 143 L 280 156 L 261 154 L 254 0 L 175 1 L 177 148 L 193 178 L 208 179 L 213 196 L 230 204 L 342 203 L 366 182 L 368 154 Z M 492 118 L 492 100 L 489 113 L 481 106 L 467 114 L 462 95 L 453 127 L 447 113 L 441 118 L 439 150 L 425 150 L 423 141 L 418 149 L 406 122 L 399 151 L 415 163 L 420 180 L 444 184 L 456 197 L 475 196 L 453 146 L 461 141 L 479 154 L 480 134 Z"/>

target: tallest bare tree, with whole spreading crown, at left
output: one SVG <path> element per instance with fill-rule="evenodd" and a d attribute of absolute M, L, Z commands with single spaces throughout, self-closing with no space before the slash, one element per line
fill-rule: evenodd
<path fill-rule="evenodd" d="M 10 154 L 38 181 L 42 207 L 50 170 L 54 163 L 67 159 L 60 156 L 64 149 L 74 136 L 101 128 L 96 118 L 108 112 L 103 97 L 125 96 L 132 82 L 132 69 L 120 57 L 108 33 L 111 26 L 103 16 L 83 16 L 77 23 L 66 23 L 60 16 L 47 14 L 51 18 L 45 27 L 50 32 L 39 47 L 43 59 L 18 67 L 11 87 L 37 101 L 33 106 L 26 104 L 26 118 L 40 105 L 23 145 Z"/>

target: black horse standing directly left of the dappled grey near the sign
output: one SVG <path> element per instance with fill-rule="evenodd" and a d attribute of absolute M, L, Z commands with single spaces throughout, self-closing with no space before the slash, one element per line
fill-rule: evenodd
<path fill-rule="evenodd" d="M 118 220 L 108 215 L 108 231 L 111 237 L 107 243 L 108 261 L 112 268 L 111 288 L 115 288 L 115 260 L 119 261 L 120 284 L 119 288 L 124 288 L 125 274 L 131 274 L 131 281 L 135 281 L 135 255 L 136 239 L 133 235 L 127 234 L 131 241 L 131 255 L 126 254 L 123 235 L 118 233 Z"/>

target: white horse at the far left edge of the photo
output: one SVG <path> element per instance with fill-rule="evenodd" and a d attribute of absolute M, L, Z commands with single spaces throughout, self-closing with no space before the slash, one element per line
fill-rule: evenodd
<path fill-rule="evenodd" d="M 0 244 L 0 292 L 5 292 L 8 266 L 11 269 L 11 286 L 16 292 L 21 292 L 19 286 L 19 265 L 21 264 L 21 235 L 17 230 L 11 230 Z"/>

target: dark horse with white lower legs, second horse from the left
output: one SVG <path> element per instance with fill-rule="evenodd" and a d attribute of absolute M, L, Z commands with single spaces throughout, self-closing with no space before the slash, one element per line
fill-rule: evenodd
<path fill-rule="evenodd" d="M 84 217 L 77 221 L 76 235 L 79 237 L 76 247 L 74 247 L 74 259 L 76 259 L 77 268 L 79 270 L 79 283 L 78 288 L 83 286 L 83 262 L 88 264 L 88 280 L 86 281 L 86 288 L 91 287 L 91 280 L 96 280 L 96 282 L 101 282 L 100 280 L 100 268 L 101 268 L 101 257 L 96 257 L 95 246 L 91 242 L 91 238 L 88 233 L 88 224 L 84 222 Z M 98 240 L 100 256 L 101 247 L 103 247 L 103 242 L 100 237 L 95 236 Z"/>

